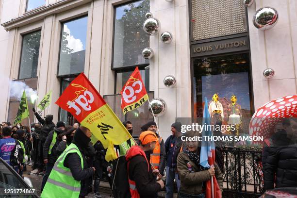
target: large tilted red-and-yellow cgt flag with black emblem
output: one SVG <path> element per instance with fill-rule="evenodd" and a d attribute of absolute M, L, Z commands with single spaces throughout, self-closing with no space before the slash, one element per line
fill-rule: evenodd
<path fill-rule="evenodd" d="M 111 142 L 119 145 L 132 138 L 83 73 L 66 87 L 55 103 L 70 112 L 82 126 L 88 128 L 96 139 L 101 141 L 104 148 L 110 147 Z M 108 151 L 111 152 L 109 149 Z M 110 161 L 115 157 L 106 156 L 105 159 Z"/>

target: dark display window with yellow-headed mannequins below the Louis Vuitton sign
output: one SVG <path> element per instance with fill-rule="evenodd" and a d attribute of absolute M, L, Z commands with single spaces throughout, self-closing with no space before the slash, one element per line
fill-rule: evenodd
<path fill-rule="evenodd" d="M 216 93 L 221 106 L 213 110 L 220 111 L 226 122 L 229 117 L 251 116 L 249 53 L 194 59 L 193 73 L 194 117 L 203 116 L 204 97 L 209 107 Z M 232 96 L 236 97 L 236 108 L 231 105 Z"/>

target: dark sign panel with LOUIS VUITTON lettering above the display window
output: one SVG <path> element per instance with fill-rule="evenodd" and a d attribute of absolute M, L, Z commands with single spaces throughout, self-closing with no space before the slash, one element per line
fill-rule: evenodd
<path fill-rule="evenodd" d="M 206 56 L 234 51 L 248 50 L 247 36 L 211 41 L 207 43 L 192 44 L 191 56 Z"/>

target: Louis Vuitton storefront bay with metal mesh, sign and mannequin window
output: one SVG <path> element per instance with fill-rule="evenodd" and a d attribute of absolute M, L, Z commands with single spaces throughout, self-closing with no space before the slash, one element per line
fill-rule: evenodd
<path fill-rule="evenodd" d="M 190 3 L 192 116 L 203 116 L 206 98 L 210 114 L 219 112 L 226 122 L 229 117 L 250 117 L 254 105 L 247 8 L 242 0 Z M 214 95 L 221 105 L 212 106 Z"/>

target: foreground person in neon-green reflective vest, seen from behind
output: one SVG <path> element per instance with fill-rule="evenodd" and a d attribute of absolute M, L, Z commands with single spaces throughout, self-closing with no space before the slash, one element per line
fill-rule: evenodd
<path fill-rule="evenodd" d="M 91 141 L 90 137 L 89 129 L 80 127 L 76 130 L 72 144 L 55 163 L 41 198 L 84 198 L 87 195 L 89 186 L 85 185 L 85 180 L 92 177 L 95 172 L 94 167 L 87 168 L 83 152 Z"/>

